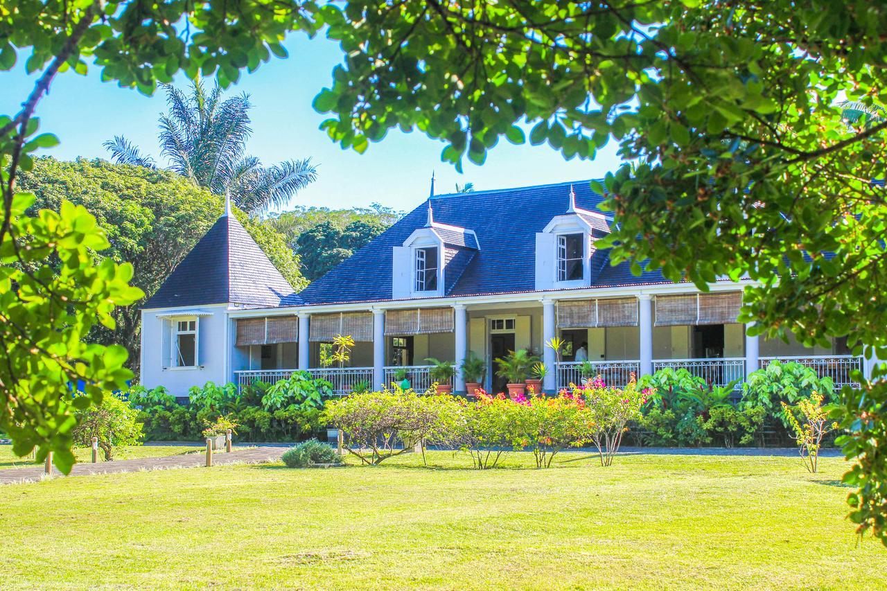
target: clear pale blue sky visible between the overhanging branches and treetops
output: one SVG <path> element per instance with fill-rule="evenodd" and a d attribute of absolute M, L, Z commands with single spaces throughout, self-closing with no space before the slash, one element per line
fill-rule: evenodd
<path fill-rule="evenodd" d="M 443 143 L 420 132 L 392 131 L 365 154 L 342 150 L 318 126 L 311 101 L 329 85 L 333 67 L 341 61 L 335 43 L 323 37 L 293 35 L 287 40 L 289 57 L 272 59 L 253 74 L 241 76 L 229 92 L 247 92 L 253 136 L 248 152 L 265 163 L 311 157 L 318 164 L 316 183 L 299 193 L 294 203 L 331 208 L 365 206 L 374 201 L 395 209 L 412 209 L 428 196 L 432 170 L 437 193 L 451 193 L 456 183 L 473 182 L 478 190 L 542 185 L 601 177 L 618 166 L 611 142 L 593 161 L 566 162 L 547 146 L 512 146 L 504 139 L 483 166 L 465 163 L 459 175 L 441 162 Z M 27 59 L 20 55 L 20 65 Z M 34 84 L 35 75 L 23 68 L 0 74 L 0 113 L 13 114 Z M 59 136 L 61 145 L 44 151 L 59 159 L 107 157 L 102 142 L 122 134 L 159 160 L 157 116 L 165 111 L 162 92 L 145 97 L 99 80 L 98 67 L 87 76 L 59 75 L 51 93 L 37 108 L 41 130 Z"/>

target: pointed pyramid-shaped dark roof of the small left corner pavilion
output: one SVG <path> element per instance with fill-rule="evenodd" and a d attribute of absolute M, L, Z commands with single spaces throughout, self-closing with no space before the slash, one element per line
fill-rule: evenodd
<path fill-rule="evenodd" d="M 220 217 L 182 259 L 144 308 L 210 303 L 297 305 L 302 298 L 271 264 L 236 217 Z"/>

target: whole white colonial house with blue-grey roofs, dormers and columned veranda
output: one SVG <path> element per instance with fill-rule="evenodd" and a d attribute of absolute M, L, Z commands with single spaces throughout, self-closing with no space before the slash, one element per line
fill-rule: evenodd
<path fill-rule="evenodd" d="M 496 359 L 521 349 L 549 368 L 546 391 L 579 381 L 577 354 L 616 385 L 662 367 L 724 385 L 771 359 L 839 386 L 867 369 L 841 339 L 807 349 L 748 335 L 736 322 L 742 282 L 700 293 L 612 266 L 596 247 L 613 225 L 601 199 L 588 181 L 433 195 L 298 294 L 226 214 L 145 303 L 141 381 L 184 397 L 209 381 L 242 388 L 306 369 L 347 394 L 403 369 L 420 390 L 426 359 L 461 366 L 470 352 L 487 368 L 484 387 L 502 391 Z M 335 335 L 356 342 L 349 363 L 322 367 Z M 560 353 L 546 347 L 554 336 Z M 465 392 L 460 371 L 452 385 Z"/>

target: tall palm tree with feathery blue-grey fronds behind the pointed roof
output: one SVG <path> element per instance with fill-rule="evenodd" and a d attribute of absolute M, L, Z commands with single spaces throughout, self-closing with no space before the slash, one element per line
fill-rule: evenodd
<path fill-rule="evenodd" d="M 265 167 L 246 155 L 249 95 L 222 98 L 216 85 L 207 92 L 200 81 L 192 83 L 192 96 L 164 85 L 169 113 L 160 118 L 161 155 L 169 169 L 217 194 L 228 193 L 235 205 L 255 215 L 286 206 L 313 182 L 317 169 L 310 159 L 280 162 Z M 154 168 L 153 159 L 141 154 L 122 136 L 105 142 L 112 160 Z"/>

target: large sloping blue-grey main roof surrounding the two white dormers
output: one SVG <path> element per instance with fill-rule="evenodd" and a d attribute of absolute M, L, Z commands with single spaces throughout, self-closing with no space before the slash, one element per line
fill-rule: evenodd
<path fill-rule="evenodd" d="M 432 197 L 434 220 L 474 230 L 483 249 L 467 260 L 447 296 L 514 293 L 535 289 L 536 233 L 554 216 L 566 213 L 571 183 Z M 578 208 L 600 211 L 602 197 L 589 181 L 572 183 Z M 586 216 L 600 225 L 604 220 Z M 402 246 L 413 231 L 426 227 L 428 201 L 413 209 L 381 236 L 361 248 L 300 296 L 305 303 L 369 302 L 391 299 L 392 248 Z M 599 228 L 602 229 L 602 228 Z M 595 261 L 600 261 L 599 255 Z M 447 283 L 450 277 L 447 276 Z M 627 264 L 601 264 L 593 287 L 670 283 L 659 272 L 632 275 Z"/>

